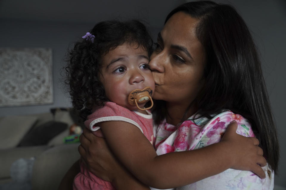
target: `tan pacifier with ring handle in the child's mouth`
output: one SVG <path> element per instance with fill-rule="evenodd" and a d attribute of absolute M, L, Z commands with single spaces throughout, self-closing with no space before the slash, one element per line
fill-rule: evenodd
<path fill-rule="evenodd" d="M 139 110 L 148 110 L 151 107 L 153 107 L 153 100 L 151 98 L 151 95 L 153 93 L 153 90 L 150 87 L 146 87 L 143 90 L 141 89 L 135 89 L 128 95 L 128 102 L 130 105 L 133 105 L 139 109 Z M 138 106 L 138 104 L 143 104 L 145 102 L 151 101 L 151 106 L 147 108 L 141 108 Z"/>

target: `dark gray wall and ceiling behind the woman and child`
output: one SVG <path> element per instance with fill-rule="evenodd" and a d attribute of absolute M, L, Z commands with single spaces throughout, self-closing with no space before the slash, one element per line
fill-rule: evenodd
<path fill-rule="evenodd" d="M 231 4 L 238 10 L 261 52 L 262 68 L 281 145 L 280 175 L 275 177 L 275 189 L 286 189 L 286 1 L 215 1 Z M 187 1 L 0 0 L 0 47 L 52 48 L 54 94 L 51 105 L 1 107 L 0 117 L 45 113 L 52 107 L 71 107 L 60 80 L 63 58 L 69 44 L 83 36 L 95 23 L 112 18 L 140 18 L 146 21 L 156 39 L 167 13 L 184 2 Z"/>

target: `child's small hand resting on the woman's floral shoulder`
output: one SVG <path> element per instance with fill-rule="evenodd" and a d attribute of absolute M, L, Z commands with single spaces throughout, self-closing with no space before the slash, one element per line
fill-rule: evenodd
<path fill-rule="evenodd" d="M 265 178 L 265 172 L 261 167 L 266 165 L 266 159 L 263 157 L 262 148 L 258 146 L 258 139 L 239 135 L 236 130 L 237 122 L 234 121 L 229 124 L 221 140 L 230 145 L 229 153 L 233 158 L 231 168 L 252 171 L 260 178 Z"/>

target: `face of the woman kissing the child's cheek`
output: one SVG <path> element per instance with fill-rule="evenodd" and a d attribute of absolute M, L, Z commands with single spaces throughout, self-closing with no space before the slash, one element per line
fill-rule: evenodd
<path fill-rule="evenodd" d="M 177 12 L 158 34 L 150 61 L 154 99 L 189 105 L 204 85 L 204 54 L 195 34 L 197 23 L 197 19 Z"/>

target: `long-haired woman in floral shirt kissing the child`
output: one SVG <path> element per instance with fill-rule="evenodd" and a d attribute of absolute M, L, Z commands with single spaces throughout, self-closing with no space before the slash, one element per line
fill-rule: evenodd
<path fill-rule="evenodd" d="M 174 9 L 167 16 L 165 26 L 158 35 L 158 45 L 151 56 L 150 68 L 156 83 L 154 99 L 158 100 L 153 110 L 155 122 L 159 124 L 156 128 L 158 154 L 182 151 L 184 148 L 200 148 L 199 144 L 194 144 L 195 137 L 200 143 L 206 136 L 217 134 L 218 131 L 214 129 L 218 129 L 218 126 L 212 122 L 218 123 L 217 119 L 232 114 L 224 110 L 231 110 L 244 117 L 238 119 L 245 122 L 243 125 L 246 128 L 250 128 L 247 127 L 250 123 L 252 130 L 259 134 L 269 168 L 277 172 L 279 145 L 261 64 L 244 21 L 232 7 L 202 1 L 189 2 Z M 192 121 L 191 124 L 180 124 L 188 118 Z M 200 124 L 196 122 L 197 119 Z M 224 122 L 223 126 L 220 126 L 221 129 L 225 129 L 227 124 L 229 123 Z M 187 130 L 191 131 L 182 133 L 186 125 Z M 195 135 L 192 136 L 194 127 L 198 130 L 195 130 Z M 209 133 L 200 136 L 204 130 Z M 175 149 L 174 146 L 178 144 L 182 134 L 190 136 L 187 145 L 182 149 L 178 146 L 178 149 Z M 208 136 L 211 141 L 206 145 L 219 141 L 219 136 L 220 134 Z M 79 152 L 96 175 L 112 181 L 117 189 L 121 189 L 121 185 L 122 189 L 127 189 L 128 183 L 135 186 L 137 183 L 142 187 L 140 182 L 116 164 L 107 149 L 104 149 L 103 153 L 100 152 L 102 149 L 96 152 L 97 158 L 102 155 L 104 157 L 100 161 L 88 156 L 94 154 L 88 150 L 97 150 L 94 146 L 105 146 L 102 139 L 85 132 L 81 136 L 81 143 Z M 99 163 L 94 165 L 94 162 Z M 112 168 L 108 169 L 107 165 L 112 165 Z M 234 180 L 232 176 L 226 176 L 231 172 L 226 172 L 221 176 L 230 178 L 226 181 Z M 250 173 L 239 174 L 243 179 L 249 179 Z M 271 188 L 273 172 L 269 170 L 266 174 L 269 174 L 268 178 L 266 177 L 268 182 L 261 182 L 261 187 Z M 182 189 L 209 189 L 209 180 L 210 178 Z M 256 183 L 257 179 L 255 180 Z M 245 187 L 244 182 L 239 184 L 235 180 L 235 184 L 220 182 L 223 183 L 224 189 L 234 188 L 232 185 L 242 189 Z"/>

